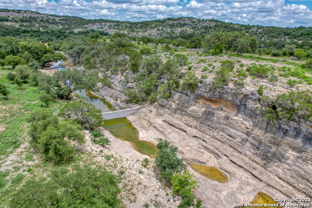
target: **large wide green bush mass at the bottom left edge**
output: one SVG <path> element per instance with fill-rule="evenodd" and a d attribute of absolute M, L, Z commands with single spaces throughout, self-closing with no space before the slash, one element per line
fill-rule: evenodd
<path fill-rule="evenodd" d="M 119 207 L 117 176 L 102 166 L 71 168 L 71 171 L 64 167 L 52 170 L 49 180 L 43 176 L 31 177 L 12 195 L 9 207 Z"/>

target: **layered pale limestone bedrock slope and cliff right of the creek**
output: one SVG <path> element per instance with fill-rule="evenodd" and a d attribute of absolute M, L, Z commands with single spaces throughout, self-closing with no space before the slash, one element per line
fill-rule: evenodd
<path fill-rule="evenodd" d="M 102 88 L 101 95 L 116 108 L 134 107 L 124 103 L 124 89 L 115 81 L 114 89 Z M 168 139 L 185 161 L 228 175 L 229 182 L 221 184 L 191 170 L 206 207 L 233 208 L 252 201 L 258 191 L 276 198 L 311 198 L 311 124 L 282 121 L 274 128 L 257 113 L 258 105 L 255 92 L 234 95 L 230 87 L 214 91 L 202 82 L 194 94 L 172 92 L 169 100 L 146 105 L 128 119 L 140 139 Z"/>

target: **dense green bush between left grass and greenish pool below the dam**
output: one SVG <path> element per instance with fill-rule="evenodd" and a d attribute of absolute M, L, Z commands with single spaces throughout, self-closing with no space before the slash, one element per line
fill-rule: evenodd
<path fill-rule="evenodd" d="M 81 126 L 73 120 L 59 120 L 51 110 L 38 110 L 30 113 L 27 118 L 30 123 L 29 135 L 31 142 L 39 147 L 47 160 L 61 163 L 74 157 L 75 147 L 71 140 L 84 142 Z"/>

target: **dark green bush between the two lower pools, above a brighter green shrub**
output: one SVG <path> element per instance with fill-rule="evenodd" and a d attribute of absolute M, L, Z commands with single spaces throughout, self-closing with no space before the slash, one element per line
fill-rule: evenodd
<path fill-rule="evenodd" d="M 175 172 L 181 172 L 186 169 L 183 159 L 176 155 L 177 147 L 171 145 L 167 140 L 157 139 L 156 148 L 160 150 L 155 158 L 156 169 L 160 171 L 160 176 L 167 181 L 171 181 Z"/>

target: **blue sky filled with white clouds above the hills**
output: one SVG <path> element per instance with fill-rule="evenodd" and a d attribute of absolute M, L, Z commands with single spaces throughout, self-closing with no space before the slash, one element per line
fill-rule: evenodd
<path fill-rule="evenodd" d="M 312 0 L 0 0 L 0 8 L 86 19 L 219 19 L 265 26 L 312 26 Z"/>

